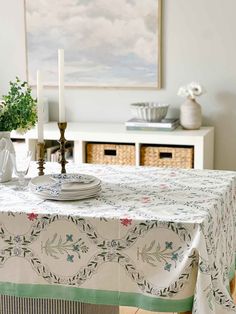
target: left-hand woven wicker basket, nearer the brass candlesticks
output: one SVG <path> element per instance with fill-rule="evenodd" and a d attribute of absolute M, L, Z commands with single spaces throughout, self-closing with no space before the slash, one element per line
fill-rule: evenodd
<path fill-rule="evenodd" d="M 135 165 L 135 146 L 129 144 L 87 143 L 90 164 Z"/>

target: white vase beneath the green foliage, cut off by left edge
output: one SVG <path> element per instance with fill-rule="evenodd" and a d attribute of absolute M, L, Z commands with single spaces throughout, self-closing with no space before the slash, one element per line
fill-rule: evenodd
<path fill-rule="evenodd" d="M 0 163 L 3 162 L 3 150 L 9 150 L 10 153 L 15 154 L 14 146 L 10 138 L 10 132 L 0 132 Z M 10 158 L 8 157 L 6 163 L 6 170 L 0 176 L 0 182 L 10 181 L 12 178 L 13 165 Z"/>

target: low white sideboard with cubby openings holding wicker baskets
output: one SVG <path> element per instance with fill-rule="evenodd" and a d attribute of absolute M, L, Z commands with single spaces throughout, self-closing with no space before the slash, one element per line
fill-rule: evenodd
<path fill-rule="evenodd" d="M 56 122 L 45 124 L 45 140 L 58 140 L 59 130 Z M 29 150 L 35 153 L 37 130 L 32 129 L 21 135 L 11 132 L 12 138 L 24 138 Z M 132 143 L 135 145 L 136 165 L 140 165 L 142 144 L 177 145 L 194 147 L 194 168 L 213 169 L 214 165 L 214 128 L 202 127 L 200 130 L 174 131 L 130 131 L 123 123 L 69 122 L 65 132 L 66 140 L 74 142 L 74 161 L 86 160 L 86 143 Z"/>

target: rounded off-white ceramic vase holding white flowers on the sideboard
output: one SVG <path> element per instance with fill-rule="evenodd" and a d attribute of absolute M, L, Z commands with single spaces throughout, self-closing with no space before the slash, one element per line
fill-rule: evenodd
<path fill-rule="evenodd" d="M 180 107 L 180 124 L 184 129 L 197 130 L 202 125 L 202 110 L 195 99 L 187 98 Z"/>

